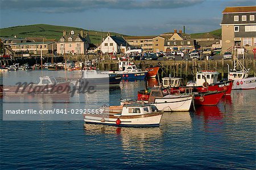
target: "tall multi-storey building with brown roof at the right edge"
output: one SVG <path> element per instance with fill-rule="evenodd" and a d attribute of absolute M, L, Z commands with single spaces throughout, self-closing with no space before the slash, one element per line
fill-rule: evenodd
<path fill-rule="evenodd" d="M 226 7 L 222 11 L 222 53 L 237 48 L 253 53 L 256 47 L 256 6 Z"/>

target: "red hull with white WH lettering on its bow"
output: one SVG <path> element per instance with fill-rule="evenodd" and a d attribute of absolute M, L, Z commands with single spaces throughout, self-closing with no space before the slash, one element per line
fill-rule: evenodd
<path fill-rule="evenodd" d="M 229 80 L 229 81 L 223 81 L 223 82 L 217 82 L 214 84 L 210 84 L 207 88 L 204 88 L 203 86 L 195 86 L 193 87 L 195 92 L 207 92 L 207 91 L 225 91 L 226 95 L 230 95 L 231 94 L 231 90 L 232 90 L 232 85 L 233 85 L 233 81 Z"/>

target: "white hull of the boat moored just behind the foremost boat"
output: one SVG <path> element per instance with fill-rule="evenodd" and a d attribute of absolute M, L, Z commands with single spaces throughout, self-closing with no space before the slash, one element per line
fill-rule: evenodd
<path fill-rule="evenodd" d="M 188 111 L 191 107 L 192 96 L 180 96 L 174 98 L 155 98 L 154 102 L 146 102 L 150 103 L 158 110 L 162 111 Z"/>

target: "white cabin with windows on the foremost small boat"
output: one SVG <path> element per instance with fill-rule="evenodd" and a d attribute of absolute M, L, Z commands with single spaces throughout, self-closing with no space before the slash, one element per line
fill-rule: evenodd
<path fill-rule="evenodd" d="M 152 108 L 150 105 L 145 104 L 125 104 L 122 109 L 121 115 L 142 115 L 152 113 Z"/>

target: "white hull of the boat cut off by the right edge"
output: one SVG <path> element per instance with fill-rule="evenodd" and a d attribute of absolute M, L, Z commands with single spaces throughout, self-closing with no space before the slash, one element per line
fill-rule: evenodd
<path fill-rule="evenodd" d="M 242 78 L 234 80 L 232 89 L 255 89 L 256 88 L 256 77 Z"/>

